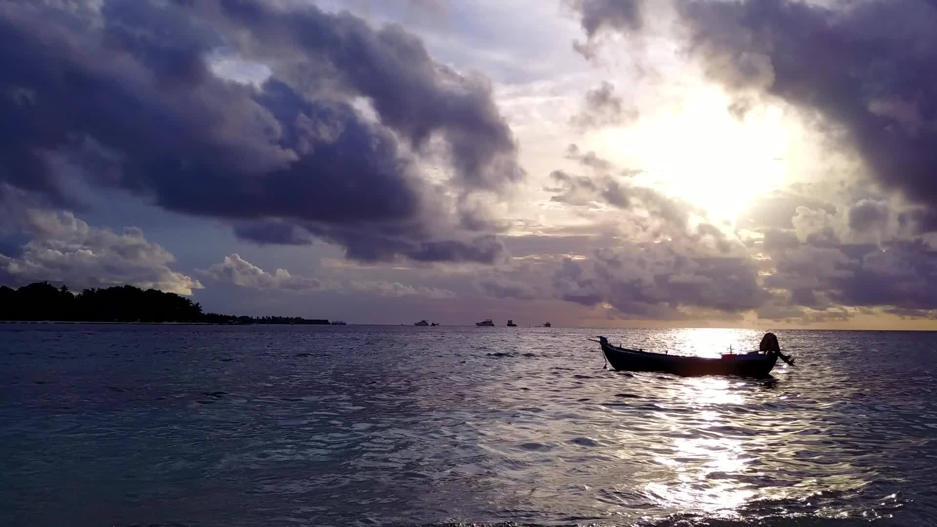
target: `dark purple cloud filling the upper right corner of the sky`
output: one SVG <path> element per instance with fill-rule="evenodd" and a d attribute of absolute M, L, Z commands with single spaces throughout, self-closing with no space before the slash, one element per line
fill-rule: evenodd
<path fill-rule="evenodd" d="M 604 3 L 600 3 L 602 5 Z M 589 38 L 640 27 L 579 5 Z M 647 4 L 649 6 L 649 4 Z M 711 79 L 818 114 L 844 132 L 879 183 L 937 207 L 937 4 L 870 0 L 826 7 L 795 0 L 675 0 L 688 48 Z M 597 19 L 596 17 L 599 17 Z M 625 23 L 622 22 L 625 21 Z M 937 215 L 925 228 L 937 229 Z"/>

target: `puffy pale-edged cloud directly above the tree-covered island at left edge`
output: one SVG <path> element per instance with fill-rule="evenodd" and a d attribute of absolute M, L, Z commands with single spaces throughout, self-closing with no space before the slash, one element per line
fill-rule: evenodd
<path fill-rule="evenodd" d="M 0 254 L 0 281 L 4 283 L 50 280 L 75 289 L 130 284 L 186 295 L 202 289 L 199 280 L 173 271 L 172 254 L 149 242 L 140 229 L 126 227 L 114 233 L 92 227 L 70 212 L 18 212 L 17 226 L 31 240 L 18 255 Z"/>

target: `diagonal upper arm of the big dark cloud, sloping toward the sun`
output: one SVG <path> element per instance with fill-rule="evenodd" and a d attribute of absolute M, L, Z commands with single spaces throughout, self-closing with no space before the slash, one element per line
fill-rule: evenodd
<path fill-rule="evenodd" d="M 423 147 L 441 134 L 463 184 L 492 188 L 523 175 L 511 128 L 491 98 L 489 81 L 435 62 L 423 42 L 402 26 L 376 31 L 347 12 L 286 11 L 256 0 L 224 0 L 220 7 L 216 12 L 222 23 L 248 32 L 243 47 L 261 60 L 276 64 L 284 52 L 315 57 L 291 68 L 274 66 L 275 74 L 321 83 L 307 70 L 318 67 L 342 87 L 369 98 L 381 123 L 414 145 Z"/>

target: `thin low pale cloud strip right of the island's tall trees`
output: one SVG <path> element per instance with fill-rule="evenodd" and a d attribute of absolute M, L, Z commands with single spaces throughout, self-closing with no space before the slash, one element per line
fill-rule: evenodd
<path fill-rule="evenodd" d="M 218 263 L 212 264 L 201 274 L 222 283 L 259 291 L 284 291 L 290 293 L 316 293 L 321 291 L 377 294 L 379 296 L 422 296 L 424 298 L 454 298 L 452 291 L 435 287 L 413 287 L 399 282 L 314 279 L 290 274 L 286 269 L 277 268 L 273 273 L 264 271 L 257 265 L 247 262 L 237 253 L 230 254 Z"/>

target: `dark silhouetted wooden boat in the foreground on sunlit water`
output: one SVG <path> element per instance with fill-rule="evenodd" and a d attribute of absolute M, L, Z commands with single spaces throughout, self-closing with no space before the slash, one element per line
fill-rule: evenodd
<path fill-rule="evenodd" d="M 768 334 L 774 337 L 772 334 Z M 777 340 L 775 340 L 777 341 Z M 748 354 L 722 354 L 720 358 L 693 357 L 685 355 L 655 354 L 644 350 L 631 350 L 613 346 L 608 339 L 599 337 L 605 360 L 616 371 L 660 371 L 675 375 L 739 375 L 742 377 L 767 377 L 778 358 L 794 364 L 790 357 L 780 351 Z"/>

